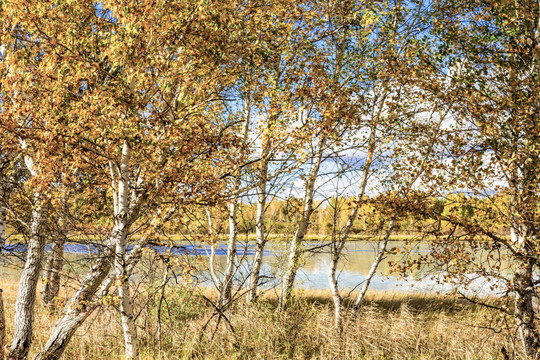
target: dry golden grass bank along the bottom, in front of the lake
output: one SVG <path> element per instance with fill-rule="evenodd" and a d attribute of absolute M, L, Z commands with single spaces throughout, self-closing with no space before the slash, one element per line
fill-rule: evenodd
<path fill-rule="evenodd" d="M 2 287 L 10 339 L 17 285 Z M 513 351 L 505 331 L 489 328 L 496 316 L 490 310 L 437 296 L 372 293 L 357 318 L 347 315 L 345 331 L 338 336 L 328 295 L 299 292 L 281 314 L 275 312 L 274 295 L 255 305 L 239 301 L 226 313 L 228 325 L 212 318 L 211 291 L 171 287 L 159 312 L 159 296 L 139 299 L 141 358 L 457 360 L 502 359 L 502 346 Z M 56 318 L 40 305 L 36 310 L 32 354 L 46 341 Z M 122 341 L 114 304 L 103 306 L 79 329 L 64 358 L 122 359 Z"/>

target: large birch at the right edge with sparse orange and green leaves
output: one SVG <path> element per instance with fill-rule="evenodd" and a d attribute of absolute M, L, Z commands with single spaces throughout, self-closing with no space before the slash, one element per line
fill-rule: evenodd
<path fill-rule="evenodd" d="M 432 255 L 460 285 L 469 284 L 472 275 L 500 282 L 495 286 L 506 301 L 499 310 L 516 320 L 524 355 L 534 359 L 540 349 L 539 4 L 438 1 L 434 10 L 430 22 L 434 47 L 426 53 L 430 59 L 425 63 L 444 76 L 428 76 L 420 84 L 439 101 L 454 104 L 454 122 L 441 133 L 446 156 L 433 166 L 429 188 L 460 193 L 459 205 L 470 206 L 476 214 L 472 219 L 454 211 L 438 215 L 433 209 L 434 218 L 451 224 L 456 232 L 442 230 Z M 452 91 L 444 91 L 447 84 Z M 436 193 L 448 198 L 443 191 Z M 501 204 L 497 196 L 509 201 Z M 481 198 L 492 206 L 480 206 Z M 492 224 L 507 227 L 510 238 L 497 234 Z M 470 241 L 454 241 L 458 237 Z M 480 242 L 482 238 L 489 241 Z M 505 253 L 498 256 L 500 248 Z M 482 249 L 493 258 L 475 261 L 462 256 L 471 251 L 467 249 Z M 447 266 L 450 261 L 457 265 Z M 505 269 L 505 261 L 512 264 L 510 269 Z"/>

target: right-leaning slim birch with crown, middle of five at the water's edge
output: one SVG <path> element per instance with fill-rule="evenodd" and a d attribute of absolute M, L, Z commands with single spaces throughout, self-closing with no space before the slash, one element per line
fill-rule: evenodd
<path fill-rule="evenodd" d="M 360 82 L 355 80 L 361 62 L 351 62 L 349 55 L 358 49 L 366 50 L 362 48 L 366 41 L 361 37 L 369 36 L 370 26 L 373 23 L 372 16 L 374 16 L 371 12 L 372 5 L 371 2 L 357 5 L 353 2 L 342 1 L 328 7 L 322 6 L 318 10 L 328 15 L 328 21 L 321 20 L 318 23 L 322 29 L 320 32 L 325 36 L 320 39 L 318 48 L 311 55 L 313 59 L 321 62 L 311 66 L 316 68 L 318 65 L 326 69 L 326 72 L 313 71 L 319 76 L 314 81 L 318 87 L 310 93 L 310 102 L 316 109 L 313 114 L 317 113 L 316 116 L 320 116 L 319 119 L 312 121 L 320 128 L 315 132 L 318 134 L 315 140 L 316 148 L 311 155 L 312 163 L 306 175 L 303 212 L 289 250 L 280 308 L 284 307 L 288 300 L 299 267 L 301 244 L 314 211 L 315 182 L 324 159 L 323 154 L 328 149 L 339 146 L 343 134 L 351 128 L 353 119 L 360 116 L 361 111 L 357 104 L 365 100 L 362 89 L 358 87 Z M 354 40 L 350 37 L 353 31 L 361 33 Z M 317 51 L 330 51 L 333 56 L 326 58 Z M 316 61 L 313 62 L 316 63 Z"/>

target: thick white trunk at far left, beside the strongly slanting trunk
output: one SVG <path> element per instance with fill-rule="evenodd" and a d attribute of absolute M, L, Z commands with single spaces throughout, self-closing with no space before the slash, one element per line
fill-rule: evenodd
<path fill-rule="evenodd" d="M 42 201 L 40 194 L 36 193 L 31 215 L 28 252 L 15 302 L 15 326 L 11 348 L 8 353 L 8 359 L 10 360 L 25 359 L 32 343 L 36 290 L 41 274 L 45 247 L 41 234 L 44 222 Z"/>

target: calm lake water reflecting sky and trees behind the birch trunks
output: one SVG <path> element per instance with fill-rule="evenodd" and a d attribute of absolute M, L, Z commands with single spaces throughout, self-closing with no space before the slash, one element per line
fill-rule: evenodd
<path fill-rule="evenodd" d="M 366 279 L 369 269 L 376 256 L 376 241 L 351 241 L 346 244 L 343 251 L 343 259 L 339 266 L 339 287 L 343 290 L 359 289 Z M 389 242 L 388 248 L 403 248 L 405 242 L 392 241 Z M 225 255 L 227 245 L 219 244 L 216 250 L 216 269 L 222 270 L 225 266 Z M 236 272 L 237 284 L 247 283 L 247 273 L 254 254 L 255 243 L 246 242 L 239 243 L 237 253 L 238 270 Z M 304 244 L 306 250 L 303 257 L 303 266 L 297 274 L 296 287 L 305 289 L 329 289 L 328 283 L 328 268 L 330 265 L 330 255 L 328 244 L 321 242 L 308 242 Z M 170 249 L 167 247 L 154 247 L 156 254 L 163 254 L 170 251 L 173 256 L 186 259 L 197 269 L 195 276 L 197 280 L 203 283 L 209 283 L 208 276 L 208 254 L 209 246 L 192 245 L 188 242 L 179 243 L 178 246 Z M 13 254 L 9 261 L 12 266 L 9 269 L 3 267 L 2 277 L 6 276 L 17 277 L 22 261 L 14 260 L 14 256 L 19 258 L 24 255 L 24 246 L 9 246 L 8 250 Z M 418 254 L 427 253 L 429 251 L 429 243 L 419 242 L 414 245 L 408 252 L 409 257 L 418 256 Z M 76 260 L 80 264 L 87 262 L 87 257 L 92 253 L 97 253 L 98 249 L 94 246 L 83 244 L 66 244 L 66 257 L 71 260 Z M 388 262 L 399 262 L 403 260 L 404 255 L 388 255 L 385 260 L 379 265 L 377 274 L 372 279 L 370 289 L 379 291 L 398 291 L 398 292 L 442 292 L 446 293 L 452 290 L 451 286 L 439 281 L 441 274 L 430 271 L 429 268 L 416 269 L 408 277 L 400 277 L 398 274 L 390 272 Z M 196 259 L 196 260 L 195 260 Z M 284 272 L 284 267 L 287 262 L 287 245 L 284 242 L 269 242 L 267 244 L 262 276 L 265 288 L 278 288 L 280 279 Z M 13 266 L 15 264 L 15 266 Z M 19 266 L 17 266 L 17 264 Z M 73 266 L 73 265 L 70 265 Z M 84 266 L 84 265 L 81 265 Z M 492 293 L 485 279 L 476 280 L 469 288 L 469 292 L 478 293 L 481 295 Z"/>

